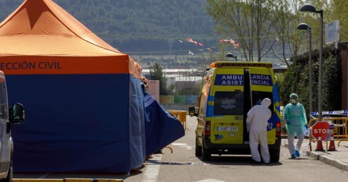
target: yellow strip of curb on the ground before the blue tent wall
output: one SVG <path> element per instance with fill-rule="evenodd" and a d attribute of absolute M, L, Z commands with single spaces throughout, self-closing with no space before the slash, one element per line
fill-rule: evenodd
<path fill-rule="evenodd" d="M 13 179 L 12 182 L 123 182 L 122 179 Z"/>

